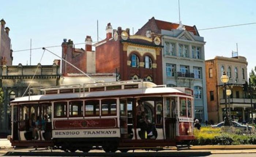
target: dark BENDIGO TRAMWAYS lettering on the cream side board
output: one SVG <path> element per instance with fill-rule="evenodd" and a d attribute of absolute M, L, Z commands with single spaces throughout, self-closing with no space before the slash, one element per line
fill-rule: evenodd
<path fill-rule="evenodd" d="M 83 131 L 84 135 L 103 135 L 103 134 L 116 134 L 116 130 L 114 131 Z M 55 135 L 79 135 L 80 131 L 57 131 Z"/>

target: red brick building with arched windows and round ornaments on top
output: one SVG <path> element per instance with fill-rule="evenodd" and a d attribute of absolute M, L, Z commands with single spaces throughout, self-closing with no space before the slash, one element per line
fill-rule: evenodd
<path fill-rule="evenodd" d="M 97 73 L 117 73 L 120 80 L 143 79 L 162 84 L 161 39 L 130 35 L 129 28 L 106 26 L 106 39 L 94 44 Z"/>

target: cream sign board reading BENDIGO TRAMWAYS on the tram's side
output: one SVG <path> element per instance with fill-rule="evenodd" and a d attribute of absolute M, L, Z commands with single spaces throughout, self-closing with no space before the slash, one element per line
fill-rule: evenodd
<path fill-rule="evenodd" d="M 53 138 L 120 137 L 119 129 L 70 129 L 53 130 Z"/>

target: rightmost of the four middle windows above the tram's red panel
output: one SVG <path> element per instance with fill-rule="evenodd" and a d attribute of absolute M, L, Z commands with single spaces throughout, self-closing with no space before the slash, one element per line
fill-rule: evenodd
<path fill-rule="evenodd" d="M 101 115 L 116 115 L 116 99 L 101 100 Z"/>

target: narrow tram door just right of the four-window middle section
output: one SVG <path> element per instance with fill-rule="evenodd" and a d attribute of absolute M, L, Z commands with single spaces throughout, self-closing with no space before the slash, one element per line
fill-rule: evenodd
<path fill-rule="evenodd" d="M 120 131 L 122 138 L 128 138 L 127 100 L 120 99 Z"/>

